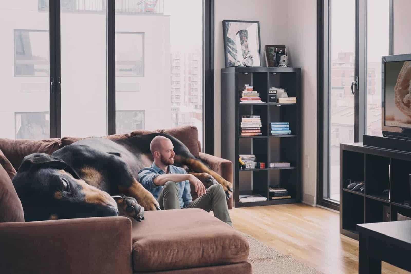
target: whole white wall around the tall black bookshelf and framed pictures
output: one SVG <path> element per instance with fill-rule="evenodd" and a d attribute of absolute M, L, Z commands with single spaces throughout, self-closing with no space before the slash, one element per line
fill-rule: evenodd
<path fill-rule="evenodd" d="M 256 5 L 258 3 L 258 5 Z M 286 45 L 290 65 L 301 67 L 302 200 L 316 204 L 317 73 L 316 0 L 215 0 L 215 155 L 221 155 L 220 71 L 224 68 L 222 20 L 260 21 L 261 50 Z M 265 66 L 263 61 L 263 66 Z M 304 117 L 306 117 L 304 119 Z"/>

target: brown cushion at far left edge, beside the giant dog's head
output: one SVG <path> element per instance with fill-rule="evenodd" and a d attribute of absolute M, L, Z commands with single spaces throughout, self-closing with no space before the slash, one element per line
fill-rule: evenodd
<path fill-rule="evenodd" d="M 0 165 L 0 223 L 11 221 L 24 221 L 23 206 L 12 180 Z"/>

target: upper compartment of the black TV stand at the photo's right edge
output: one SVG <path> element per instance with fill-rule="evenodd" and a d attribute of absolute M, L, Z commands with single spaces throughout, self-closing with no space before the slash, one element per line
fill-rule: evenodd
<path fill-rule="evenodd" d="M 410 174 L 410 161 L 391 159 L 391 201 L 401 204 L 404 200 L 411 199 Z"/>

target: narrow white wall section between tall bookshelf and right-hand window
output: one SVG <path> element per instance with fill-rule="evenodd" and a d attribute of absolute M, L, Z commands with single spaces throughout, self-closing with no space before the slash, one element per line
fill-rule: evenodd
<path fill-rule="evenodd" d="M 301 68 L 302 201 L 316 204 L 317 188 L 317 5 L 316 0 L 288 0 L 285 45 L 291 66 Z"/>

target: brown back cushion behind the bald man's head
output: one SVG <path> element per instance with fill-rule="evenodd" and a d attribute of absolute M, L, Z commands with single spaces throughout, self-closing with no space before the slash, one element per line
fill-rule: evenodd
<path fill-rule="evenodd" d="M 165 133 L 179 139 L 185 144 L 188 150 L 197 158 L 199 157 L 199 131 L 195 126 L 182 126 L 170 129 L 135 130 L 130 133 L 130 137 L 136 135 L 146 135 L 154 132 Z"/>

